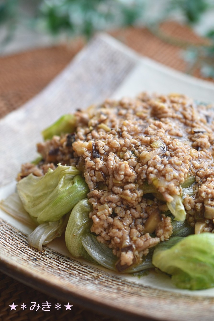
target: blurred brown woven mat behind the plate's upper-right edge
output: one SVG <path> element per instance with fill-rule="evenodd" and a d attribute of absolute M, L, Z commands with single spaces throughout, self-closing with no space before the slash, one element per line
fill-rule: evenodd
<path fill-rule="evenodd" d="M 141 55 L 150 57 L 163 65 L 182 72 L 187 71 L 187 64 L 182 58 L 182 49 L 176 43 L 181 46 L 185 46 L 186 42 L 197 45 L 207 43 L 206 40 L 195 35 L 191 29 L 176 22 L 163 23 L 158 32 L 168 38 L 168 41 L 161 40 L 148 29 L 140 28 L 118 30 L 112 32 L 112 35 Z M 173 44 L 170 43 L 172 41 L 172 39 L 169 39 L 170 37 L 173 38 Z M 202 78 L 199 69 L 194 70 L 193 76 Z"/>

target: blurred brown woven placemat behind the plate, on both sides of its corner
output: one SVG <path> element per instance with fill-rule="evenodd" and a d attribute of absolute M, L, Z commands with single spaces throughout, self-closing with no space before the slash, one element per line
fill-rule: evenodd
<path fill-rule="evenodd" d="M 173 36 L 176 41 L 204 44 L 206 40 L 176 22 L 161 25 L 165 37 Z M 166 42 L 146 28 L 127 28 L 110 32 L 112 36 L 144 56 L 164 65 L 186 72 L 187 64 L 182 58 L 182 50 L 175 44 Z M 30 50 L 0 58 L 0 117 L 22 106 L 39 93 L 75 56 L 84 45 L 82 39 L 71 40 L 67 46 L 56 46 Z M 199 69 L 193 75 L 202 78 Z M 212 81 L 211 79 L 207 79 Z"/>

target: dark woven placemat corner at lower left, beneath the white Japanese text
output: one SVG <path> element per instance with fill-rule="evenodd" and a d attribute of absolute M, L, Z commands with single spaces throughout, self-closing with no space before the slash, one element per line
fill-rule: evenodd
<path fill-rule="evenodd" d="M 105 316 L 95 313 L 84 307 L 73 305 L 66 311 L 65 305 L 68 302 L 57 300 L 44 293 L 36 291 L 18 281 L 13 280 L 9 276 L 0 272 L 0 320 L 1 321 L 25 321 L 25 320 L 41 320 L 41 321 L 120 321 L 114 317 Z M 14 302 L 16 310 L 11 310 L 10 305 Z M 36 302 L 35 308 L 31 308 Z M 49 303 L 49 308 L 44 303 Z M 21 305 L 25 304 L 26 309 L 22 309 Z M 57 304 L 60 308 L 55 308 Z M 69 302 L 72 305 L 72 302 Z M 38 305 L 40 308 L 38 308 Z M 44 310 L 43 310 L 44 309 Z M 50 311 L 48 311 L 50 309 Z M 45 311 L 46 310 L 46 311 Z"/>

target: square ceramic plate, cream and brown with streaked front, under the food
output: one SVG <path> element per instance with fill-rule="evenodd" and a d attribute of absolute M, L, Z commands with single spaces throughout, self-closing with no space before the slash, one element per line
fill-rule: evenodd
<path fill-rule="evenodd" d="M 107 97 L 140 91 L 180 92 L 210 102 L 214 85 L 162 66 L 105 34 L 96 36 L 39 95 L 1 120 L 1 198 L 11 194 L 20 164 L 36 157 L 39 133 L 62 114 Z M 128 320 L 212 320 L 214 289 L 176 289 L 156 271 L 141 278 L 72 258 L 63 237 L 43 252 L 27 243 L 30 229 L 0 214 L 0 269 L 56 298 Z"/>

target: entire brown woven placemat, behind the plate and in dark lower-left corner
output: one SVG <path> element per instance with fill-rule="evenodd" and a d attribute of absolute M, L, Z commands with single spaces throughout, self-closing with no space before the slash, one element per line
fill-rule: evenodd
<path fill-rule="evenodd" d="M 173 35 L 178 40 L 192 43 L 204 43 L 190 29 L 175 22 L 162 25 L 166 34 Z M 185 72 L 186 63 L 181 57 L 181 49 L 175 44 L 164 42 L 147 29 L 127 28 L 111 32 L 115 38 L 124 42 L 140 54 L 148 56 L 162 64 Z M 73 40 L 68 46 L 56 46 L 30 50 L 0 59 L 0 108 L 1 117 L 20 107 L 26 101 L 40 92 L 64 67 L 75 54 L 84 46 L 81 39 Z M 199 70 L 194 76 L 200 77 Z M 61 302 L 39 291 L 33 290 L 20 282 L 0 273 L 0 320 L 115 320 L 108 316 L 96 314 L 84 307 L 73 306 L 70 310 L 55 310 L 55 304 L 62 307 L 68 302 Z M 51 302 L 51 311 L 21 310 L 21 304 L 28 306 L 37 302 L 42 307 L 43 302 Z M 10 310 L 12 303 L 18 303 L 17 310 Z M 17 302 L 17 303 L 16 303 Z M 70 302 L 72 304 L 72 302 Z"/>

